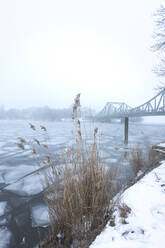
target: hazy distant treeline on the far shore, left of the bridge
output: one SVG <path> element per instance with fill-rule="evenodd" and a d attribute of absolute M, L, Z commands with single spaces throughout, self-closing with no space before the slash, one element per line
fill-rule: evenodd
<path fill-rule="evenodd" d="M 89 108 L 82 109 L 83 116 L 88 118 L 91 116 Z M 46 121 L 59 121 L 61 119 L 72 118 L 72 107 L 63 109 L 54 109 L 48 106 L 45 107 L 32 107 L 27 109 L 9 109 L 5 110 L 0 107 L 1 120 L 46 120 Z"/>

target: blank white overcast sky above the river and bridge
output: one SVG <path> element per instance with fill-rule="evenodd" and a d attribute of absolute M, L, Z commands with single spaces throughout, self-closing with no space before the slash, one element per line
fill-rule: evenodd
<path fill-rule="evenodd" d="M 0 0 L 0 105 L 134 107 L 159 83 L 153 13 L 163 0 Z"/>

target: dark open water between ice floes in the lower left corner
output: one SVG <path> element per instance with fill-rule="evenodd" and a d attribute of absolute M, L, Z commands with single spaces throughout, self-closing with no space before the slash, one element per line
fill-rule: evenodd
<path fill-rule="evenodd" d="M 48 233 L 48 227 L 33 227 L 32 207 L 44 204 L 43 194 L 33 197 L 20 197 L 8 191 L 0 192 L 1 201 L 7 202 L 5 214 L 6 226 L 12 233 L 9 248 L 34 247 Z"/>

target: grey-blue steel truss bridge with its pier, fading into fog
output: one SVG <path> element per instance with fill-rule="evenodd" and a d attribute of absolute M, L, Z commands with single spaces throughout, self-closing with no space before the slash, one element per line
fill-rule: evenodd
<path fill-rule="evenodd" d="M 125 140 L 128 143 L 128 118 L 165 115 L 165 89 L 144 104 L 131 108 L 124 102 L 107 102 L 96 116 L 97 120 L 110 121 L 113 118 L 125 119 Z"/>

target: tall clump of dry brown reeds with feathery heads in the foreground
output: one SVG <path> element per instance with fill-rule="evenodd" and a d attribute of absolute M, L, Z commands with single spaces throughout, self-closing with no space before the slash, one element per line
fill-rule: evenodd
<path fill-rule="evenodd" d="M 45 149 L 38 162 L 46 165 L 42 184 L 49 209 L 51 235 L 41 247 L 89 247 L 103 229 L 111 213 L 110 200 L 114 192 L 111 183 L 113 171 L 107 173 L 100 159 L 98 128 L 93 130 L 92 141 L 86 142 L 79 120 L 80 94 L 73 105 L 73 144 L 65 148 L 56 164 L 49 147 L 37 139 L 34 143 Z M 34 125 L 30 127 L 35 131 Z M 41 126 L 43 131 L 46 129 Z M 26 141 L 18 144 L 24 149 Z M 37 149 L 31 146 L 34 157 Z M 117 175 L 116 175 L 117 176 Z M 114 178 L 113 178 L 114 179 Z"/>

